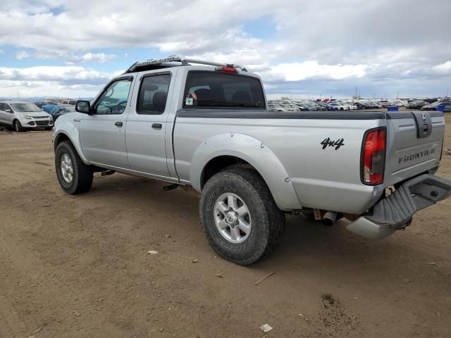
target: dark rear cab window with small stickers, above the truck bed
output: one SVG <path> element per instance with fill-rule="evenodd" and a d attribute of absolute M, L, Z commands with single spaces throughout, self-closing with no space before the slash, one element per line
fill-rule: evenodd
<path fill-rule="evenodd" d="M 232 73 L 191 71 L 187 75 L 185 108 L 266 108 L 261 82 Z"/>

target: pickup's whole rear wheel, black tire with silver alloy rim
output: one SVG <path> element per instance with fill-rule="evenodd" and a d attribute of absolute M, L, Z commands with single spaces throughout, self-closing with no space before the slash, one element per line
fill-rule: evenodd
<path fill-rule="evenodd" d="M 234 168 L 211 177 L 202 190 L 200 219 L 206 239 L 226 260 L 249 265 L 271 253 L 285 216 L 254 170 Z"/>

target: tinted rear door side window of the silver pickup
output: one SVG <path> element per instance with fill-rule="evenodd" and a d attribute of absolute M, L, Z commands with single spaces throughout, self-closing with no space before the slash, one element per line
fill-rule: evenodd
<path fill-rule="evenodd" d="M 143 77 L 136 112 L 138 114 L 162 114 L 166 108 L 170 82 L 170 74 Z"/>

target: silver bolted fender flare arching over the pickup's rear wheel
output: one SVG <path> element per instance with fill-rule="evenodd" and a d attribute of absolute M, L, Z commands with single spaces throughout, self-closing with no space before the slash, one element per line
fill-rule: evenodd
<path fill-rule="evenodd" d="M 252 165 L 263 177 L 281 210 L 302 208 L 290 177 L 277 156 L 259 139 L 246 134 L 217 134 L 197 147 L 192 156 L 190 181 L 198 192 L 202 191 L 205 166 L 218 156 L 235 156 Z"/>

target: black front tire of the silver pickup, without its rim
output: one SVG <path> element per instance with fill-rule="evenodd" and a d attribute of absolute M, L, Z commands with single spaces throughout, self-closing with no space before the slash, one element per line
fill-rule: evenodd
<path fill-rule="evenodd" d="M 71 182 L 66 182 L 61 170 L 61 158 L 64 154 L 69 156 L 72 163 L 73 178 Z M 93 178 L 92 168 L 83 163 L 80 156 L 78 156 L 77 151 L 70 142 L 61 142 L 56 147 L 55 169 L 61 188 L 63 188 L 63 190 L 68 194 L 82 194 L 83 192 L 87 192 L 91 189 Z"/>

